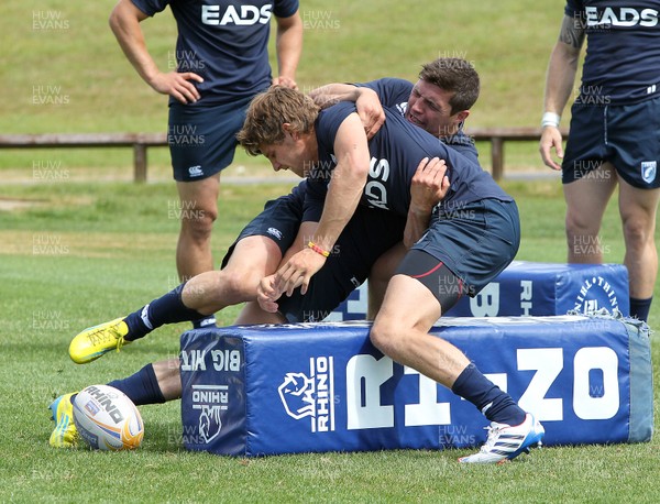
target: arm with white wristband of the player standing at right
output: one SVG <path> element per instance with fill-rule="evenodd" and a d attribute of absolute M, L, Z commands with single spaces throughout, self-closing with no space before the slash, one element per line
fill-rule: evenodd
<path fill-rule="evenodd" d="M 580 59 L 580 51 L 584 39 L 585 32 L 581 22 L 564 15 L 559 40 L 550 54 L 550 62 L 548 63 L 543 102 L 543 131 L 539 145 L 543 163 L 553 169 L 561 169 L 561 166 L 552 158 L 551 150 L 554 149 L 557 155 L 560 158 L 563 157 L 559 120 L 575 83 L 578 61 Z"/>

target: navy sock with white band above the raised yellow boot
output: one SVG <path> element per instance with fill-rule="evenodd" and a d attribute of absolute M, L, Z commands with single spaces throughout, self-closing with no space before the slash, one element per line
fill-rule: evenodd
<path fill-rule="evenodd" d="M 124 318 L 127 326 L 129 326 L 129 333 L 125 339 L 128 341 L 136 340 L 165 324 L 185 322 L 206 318 L 206 315 L 184 305 L 182 293 L 184 292 L 185 285 L 186 283 L 183 283 L 175 289 L 154 299 L 148 305 L 143 306 Z"/>

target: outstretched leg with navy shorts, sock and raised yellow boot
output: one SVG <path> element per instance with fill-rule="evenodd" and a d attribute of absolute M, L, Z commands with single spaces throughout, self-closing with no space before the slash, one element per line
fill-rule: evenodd
<path fill-rule="evenodd" d="M 84 330 L 69 346 L 77 363 L 91 362 L 164 324 L 193 321 L 255 299 L 258 282 L 279 265 L 302 219 L 305 182 L 266 202 L 231 245 L 220 271 L 201 273 L 128 317 Z"/>

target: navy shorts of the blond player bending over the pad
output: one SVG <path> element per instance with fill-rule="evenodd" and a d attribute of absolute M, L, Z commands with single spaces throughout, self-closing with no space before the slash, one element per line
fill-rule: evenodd
<path fill-rule="evenodd" d="M 516 256 L 520 245 L 520 219 L 515 201 L 482 199 L 450 212 L 433 215 L 429 230 L 411 246 L 443 263 L 471 297 L 491 283 Z M 397 273 L 409 276 L 405 262 Z M 446 286 L 439 286 L 438 297 Z"/>

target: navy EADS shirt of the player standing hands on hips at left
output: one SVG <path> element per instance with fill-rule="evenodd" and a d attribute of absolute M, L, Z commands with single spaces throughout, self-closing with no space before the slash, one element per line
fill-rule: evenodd
<path fill-rule="evenodd" d="M 271 86 L 271 18 L 289 18 L 298 10 L 298 0 L 131 1 L 150 17 L 169 4 L 178 37 L 168 61 L 173 66 L 176 62 L 178 72 L 204 78 L 204 83 L 194 83 L 201 99 L 190 106 L 231 102 Z"/>

